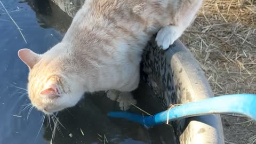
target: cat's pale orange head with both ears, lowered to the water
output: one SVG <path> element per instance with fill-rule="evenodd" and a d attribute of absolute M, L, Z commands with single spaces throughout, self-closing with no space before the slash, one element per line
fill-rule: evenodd
<path fill-rule="evenodd" d="M 29 67 L 28 95 L 33 106 L 45 114 L 73 107 L 83 95 L 79 78 L 68 74 L 68 63 L 61 60 L 60 53 L 36 54 L 21 49 L 19 58 Z"/>

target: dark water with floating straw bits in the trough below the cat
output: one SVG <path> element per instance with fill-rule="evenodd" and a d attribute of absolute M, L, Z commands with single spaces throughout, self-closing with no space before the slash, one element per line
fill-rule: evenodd
<path fill-rule="evenodd" d="M 26 89 L 29 71 L 17 52 L 25 47 L 37 53 L 50 49 L 61 41 L 71 18 L 46 0 L 4 0 L 2 3 L 28 43 L 0 5 L 0 144 L 50 143 L 53 123 L 50 126 L 48 121 L 43 122 L 43 114 L 35 109 L 29 117 L 28 109 L 22 111 L 24 105 L 30 103 L 22 90 Z M 134 95 L 138 106 L 149 113 L 162 111 L 145 84 L 141 83 Z M 77 106 L 58 113 L 65 128 L 60 126 L 61 132 L 56 131 L 52 143 L 107 143 L 101 138 L 104 135 L 109 143 L 174 143 L 172 127 L 159 125 L 146 129 L 123 119 L 109 118 L 106 116 L 109 111 L 119 110 L 118 103 L 103 93 L 86 96 Z M 131 110 L 140 113 L 136 108 Z"/>

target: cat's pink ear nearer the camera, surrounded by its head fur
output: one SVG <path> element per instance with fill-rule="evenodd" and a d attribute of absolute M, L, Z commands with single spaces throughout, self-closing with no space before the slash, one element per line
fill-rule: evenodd
<path fill-rule="evenodd" d="M 45 85 L 44 89 L 39 94 L 49 98 L 59 97 L 60 95 L 59 85 L 54 82 L 48 82 Z"/>

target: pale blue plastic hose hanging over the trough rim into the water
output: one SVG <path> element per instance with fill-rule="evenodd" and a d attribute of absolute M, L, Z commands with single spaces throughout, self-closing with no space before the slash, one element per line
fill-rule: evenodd
<path fill-rule="evenodd" d="M 169 121 L 175 119 L 208 115 L 235 113 L 251 117 L 256 120 L 256 94 L 229 94 L 219 97 L 204 99 L 201 101 L 186 103 L 170 110 L 165 110 L 154 116 L 141 116 L 138 114 L 126 112 L 111 111 L 108 116 L 116 118 L 125 118 L 130 121 L 151 127 L 157 124 L 167 122 L 169 113 Z"/>

